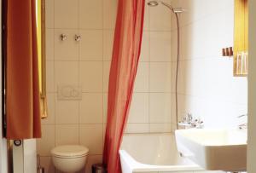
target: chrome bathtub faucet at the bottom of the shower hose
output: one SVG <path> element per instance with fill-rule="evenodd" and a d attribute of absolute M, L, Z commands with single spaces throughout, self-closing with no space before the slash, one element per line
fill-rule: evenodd
<path fill-rule="evenodd" d="M 193 118 L 192 114 L 188 113 L 183 117 L 182 121 L 178 122 L 178 125 L 184 129 L 202 129 L 204 127 L 204 122 L 201 120 L 201 118 Z"/>

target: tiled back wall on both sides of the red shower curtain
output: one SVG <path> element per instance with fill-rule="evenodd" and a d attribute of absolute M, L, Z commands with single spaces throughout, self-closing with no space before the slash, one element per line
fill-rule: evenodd
<path fill-rule="evenodd" d="M 47 94 L 49 117 L 42 121 L 38 153 L 54 172 L 50 149 L 82 144 L 90 164 L 102 161 L 108 72 L 117 0 L 46 0 Z M 160 20 L 161 19 L 161 20 Z M 61 34 L 67 35 L 61 41 Z M 82 38 L 74 40 L 75 34 Z M 81 101 L 61 101 L 61 85 L 82 87 Z M 126 132 L 171 131 L 171 15 L 146 7 L 143 50 Z"/>

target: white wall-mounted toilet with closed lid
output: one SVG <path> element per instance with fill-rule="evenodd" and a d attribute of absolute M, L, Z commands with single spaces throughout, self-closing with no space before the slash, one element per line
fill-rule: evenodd
<path fill-rule="evenodd" d="M 79 145 L 66 145 L 55 147 L 50 153 L 57 170 L 77 172 L 84 168 L 89 149 Z"/>

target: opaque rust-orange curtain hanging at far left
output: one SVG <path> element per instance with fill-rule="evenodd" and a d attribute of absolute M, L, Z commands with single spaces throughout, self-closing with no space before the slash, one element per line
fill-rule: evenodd
<path fill-rule="evenodd" d="M 6 121 L 8 139 L 41 137 L 35 0 L 8 0 Z"/>

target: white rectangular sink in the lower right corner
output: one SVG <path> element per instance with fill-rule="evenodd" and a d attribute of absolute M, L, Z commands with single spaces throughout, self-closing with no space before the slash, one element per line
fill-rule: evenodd
<path fill-rule="evenodd" d="M 205 170 L 246 170 L 247 130 L 176 130 L 175 136 L 178 152 Z"/>

